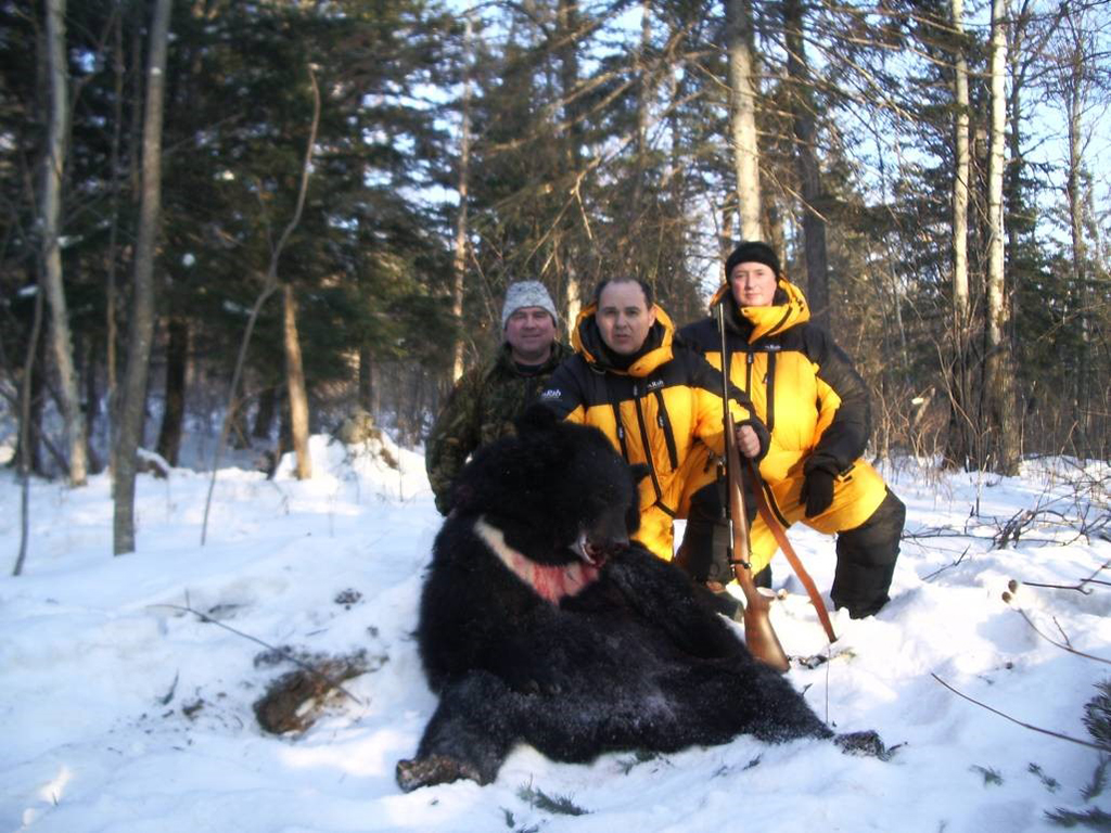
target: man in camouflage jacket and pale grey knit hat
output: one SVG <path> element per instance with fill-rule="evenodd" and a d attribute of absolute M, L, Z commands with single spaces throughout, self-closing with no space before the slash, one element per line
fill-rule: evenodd
<path fill-rule="evenodd" d="M 426 446 L 424 466 L 441 514 L 451 511 L 451 486 L 467 459 L 478 448 L 511 434 L 513 420 L 571 355 L 556 341 L 558 321 L 542 283 L 509 285 L 501 312 L 503 343 L 490 362 L 459 380 Z"/>

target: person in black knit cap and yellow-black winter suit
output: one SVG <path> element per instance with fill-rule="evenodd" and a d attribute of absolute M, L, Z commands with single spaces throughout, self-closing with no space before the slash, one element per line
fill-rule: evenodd
<path fill-rule="evenodd" d="M 864 381 L 829 332 L 810 321 L 802 292 L 765 243 L 741 243 L 729 255 L 711 308 L 719 303 L 725 305 L 729 379 L 751 397 L 771 432 L 760 474 L 772 511 L 784 526 L 802 521 L 837 534 L 833 605 L 853 619 L 875 613 L 888 601 L 907 509 L 861 458 L 871 433 Z M 714 317 L 683 328 L 680 338 L 721 369 Z M 713 485 L 694 495 L 684 539 L 692 552 L 708 552 L 720 501 Z M 757 574 L 777 549 L 763 519 L 752 522 L 751 542 Z M 712 563 L 691 570 L 695 580 L 724 574 L 723 548 L 715 549 Z"/>

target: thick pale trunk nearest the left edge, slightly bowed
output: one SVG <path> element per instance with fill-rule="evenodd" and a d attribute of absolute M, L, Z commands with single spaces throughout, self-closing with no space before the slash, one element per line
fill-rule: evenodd
<path fill-rule="evenodd" d="M 61 232 L 62 168 L 69 134 L 69 72 L 66 57 L 66 0 L 47 2 L 47 54 L 50 72 L 50 118 L 42 173 L 42 288 L 50 302 L 50 337 L 58 367 L 62 416 L 69 445 L 69 480 L 74 486 L 88 480 L 84 415 L 77 391 L 73 339 L 70 335 L 66 290 L 62 287 Z"/>

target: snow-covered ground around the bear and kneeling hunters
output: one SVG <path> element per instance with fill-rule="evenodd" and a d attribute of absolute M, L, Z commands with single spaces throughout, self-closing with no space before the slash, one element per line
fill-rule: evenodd
<path fill-rule="evenodd" d="M 909 508 L 891 603 L 834 618 L 833 659 L 790 680 L 838 731 L 877 730 L 890 762 L 817 741 L 750 737 L 591 765 L 516 751 L 497 782 L 411 794 L 393 781 L 436 700 L 411 631 L 439 516 L 419 455 L 314 438 L 316 475 L 298 482 L 220 472 L 200 545 L 208 476 L 143 475 L 138 551 L 112 558 L 104 476 L 81 490 L 34 483 L 24 574 L 0 579 L 0 831 L 1040 831 L 1045 811 L 1111 811 L 1082 795 L 1100 753 L 1017 725 L 1091 740 L 1082 719 L 1111 674 L 1039 636 L 1111 659 L 1111 588 L 1077 585 L 1111 561 L 1107 538 L 1078 538 L 1109 512 L 1105 471 L 1031 462 L 1021 479 L 889 470 Z M 1103 479 L 1102 486 L 1098 485 Z M 1070 483 L 1088 480 L 1091 493 Z M 972 510 L 979 506 L 979 512 Z M 1048 510 L 995 549 L 1023 510 Z M 1108 531 L 1104 530 L 1104 535 Z M 791 532 L 819 586 L 832 541 Z M 3 573 L 19 541 L 19 489 L 0 473 Z M 782 558 L 790 594 L 773 622 L 792 655 L 824 638 Z M 1023 585 L 1008 605 L 1008 582 Z M 222 625 L 184 610 L 204 612 Z M 229 629 L 234 629 L 238 633 Z M 300 736 L 263 733 L 252 703 L 304 655 L 366 650 L 368 673 Z M 1111 787 L 1109 787 L 1111 789 Z M 549 801 L 554 800 L 554 801 Z M 560 812 L 560 811 L 564 812 Z M 578 814 L 569 814 L 565 811 Z"/>

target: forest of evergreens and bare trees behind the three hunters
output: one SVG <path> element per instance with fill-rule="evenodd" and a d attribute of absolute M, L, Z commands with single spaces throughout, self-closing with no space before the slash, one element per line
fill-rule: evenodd
<path fill-rule="evenodd" d="M 1109 50 L 1085 0 L 0 0 L 11 463 L 112 464 L 128 552 L 138 448 L 418 445 L 510 281 L 682 324 L 744 239 L 877 455 L 1111 459 Z"/>

